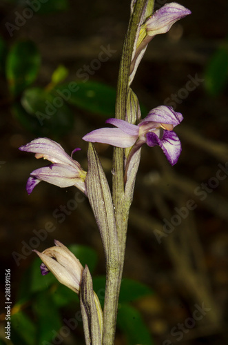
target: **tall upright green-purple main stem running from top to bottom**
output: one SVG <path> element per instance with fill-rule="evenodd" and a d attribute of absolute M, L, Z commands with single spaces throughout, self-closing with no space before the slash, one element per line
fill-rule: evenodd
<path fill-rule="evenodd" d="M 149 4 L 148 4 L 149 3 Z M 129 92 L 129 69 L 132 61 L 132 52 L 136 40 L 136 32 L 139 23 L 142 23 L 145 15 L 152 12 L 154 1 L 136 0 L 134 12 L 129 21 L 123 54 L 118 75 L 118 85 L 116 92 L 116 118 L 125 119 L 127 108 L 127 95 Z M 147 14 L 147 10 L 151 11 Z M 113 345 L 116 330 L 116 314 L 118 308 L 118 295 L 121 287 L 121 277 L 123 273 L 123 263 L 125 257 L 125 240 L 127 234 L 127 221 L 129 207 L 132 200 L 124 198 L 124 149 L 114 148 L 113 159 L 113 201 L 116 217 L 116 229 L 118 233 L 118 244 L 120 248 L 120 258 L 116 262 L 108 263 L 106 270 L 105 306 L 103 313 L 103 345 Z M 112 244 L 111 244 L 112 245 Z"/>

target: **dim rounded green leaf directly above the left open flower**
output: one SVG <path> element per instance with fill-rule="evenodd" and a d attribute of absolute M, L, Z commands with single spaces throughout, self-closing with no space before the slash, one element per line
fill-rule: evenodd
<path fill-rule="evenodd" d="M 61 136 L 72 130 L 74 115 L 60 96 L 41 88 L 30 88 L 23 92 L 21 104 L 23 111 L 16 106 L 14 112 L 16 110 L 21 124 L 35 134 Z"/>

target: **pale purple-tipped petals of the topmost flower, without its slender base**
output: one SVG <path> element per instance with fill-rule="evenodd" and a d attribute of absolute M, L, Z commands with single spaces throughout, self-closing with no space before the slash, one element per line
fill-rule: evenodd
<path fill-rule="evenodd" d="M 176 21 L 186 17 L 188 14 L 191 14 L 191 11 L 179 3 L 166 3 L 145 22 L 147 34 L 149 36 L 165 34 Z"/>

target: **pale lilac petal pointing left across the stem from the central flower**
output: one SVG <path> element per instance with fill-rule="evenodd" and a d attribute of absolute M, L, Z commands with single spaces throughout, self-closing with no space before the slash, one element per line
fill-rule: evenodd
<path fill-rule="evenodd" d="M 129 148 L 134 145 L 137 137 L 138 135 L 127 135 L 119 128 L 100 128 L 85 135 L 83 140 L 92 143 L 110 144 L 118 148 Z"/>

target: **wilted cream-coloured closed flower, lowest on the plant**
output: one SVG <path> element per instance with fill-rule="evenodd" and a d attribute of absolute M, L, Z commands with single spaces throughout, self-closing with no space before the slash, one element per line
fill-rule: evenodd
<path fill-rule="evenodd" d="M 68 286 L 75 293 L 79 293 L 83 266 L 74 254 L 61 242 L 54 240 L 55 247 L 45 249 L 42 253 L 33 250 L 42 260 L 41 274 L 52 272 L 56 279 Z"/>

